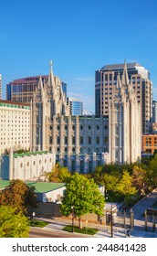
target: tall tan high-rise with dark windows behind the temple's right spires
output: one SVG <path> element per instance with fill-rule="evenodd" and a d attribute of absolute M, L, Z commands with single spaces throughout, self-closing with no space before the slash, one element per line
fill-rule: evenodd
<path fill-rule="evenodd" d="M 152 81 L 150 80 L 150 72 L 138 63 L 128 63 L 126 65 L 128 80 L 132 83 L 132 88 L 136 92 L 138 102 L 141 103 L 142 133 L 149 133 L 152 122 Z M 96 115 L 109 114 L 109 101 L 114 94 L 118 74 L 120 74 L 120 79 L 122 79 L 123 66 L 123 64 L 105 65 L 102 69 L 96 70 Z"/>

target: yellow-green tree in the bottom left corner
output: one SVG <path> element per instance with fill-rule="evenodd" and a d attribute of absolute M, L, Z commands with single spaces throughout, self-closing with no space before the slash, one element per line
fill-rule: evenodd
<path fill-rule="evenodd" d="M 0 206 L 0 237 L 28 238 L 29 221 L 22 213 L 16 214 L 16 208 Z"/>

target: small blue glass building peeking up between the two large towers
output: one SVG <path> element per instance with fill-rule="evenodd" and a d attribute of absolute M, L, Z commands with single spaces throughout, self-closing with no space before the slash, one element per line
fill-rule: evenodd
<path fill-rule="evenodd" d="M 71 115 L 83 115 L 83 102 L 68 97 L 69 112 Z"/>

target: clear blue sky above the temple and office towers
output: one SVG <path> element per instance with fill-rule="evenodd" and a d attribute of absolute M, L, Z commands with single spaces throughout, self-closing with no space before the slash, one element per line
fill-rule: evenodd
<path fill-rule="evenodd" d="M 139 62 L 157 100 L 156 0 L 1 0 L 0 73 L 11 80 L 54 74 L 94 112 L 95 70 Z"/>

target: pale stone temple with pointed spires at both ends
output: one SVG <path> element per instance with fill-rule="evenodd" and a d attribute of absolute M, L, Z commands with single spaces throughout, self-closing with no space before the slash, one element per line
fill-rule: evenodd
<path fill-rule="evenodd" d="M 108 115 L 70 115 L 52 65 L 48 81 L 43 84 L 40 77 L 31 101 L 31 151 L 54 152 L 61 165 L 80 173 L 107 163 L 133 163 L 141 157 L 141 102 L 129 82 L 126 64 L 122 79 L 117 78 Z"/>

